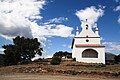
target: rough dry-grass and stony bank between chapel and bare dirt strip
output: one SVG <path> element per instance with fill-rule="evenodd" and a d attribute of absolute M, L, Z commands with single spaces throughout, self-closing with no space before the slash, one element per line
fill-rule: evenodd
<path fill-rule="evenodd" d="M 38 70 L 40 69 L 40 70 Z M 26 71 L 26 72 L 25 72 Z M 37 72 L 38 71 L 38 72 Z M 68 72 L 67 72 L 68 71 Z M 82 71 L 84 74 L 77 74 L 74 71 L 79 72 Z M 91 74 L 91 71 L 94 74 Z M 59 73 L 60 72 L 60 73 Z M 97 74 L 97 72 L 101 72 Z M 34 73 L 34 74 L 43 74 L 43 75 L 67 75 L 67 76 L 82 76 L 82 77 L 106 77 L 104 76 L 106 73 L 119 73 L 120 74 L 120 64 L 115 65 L 106 65 L 101 66 L 101 64 L 83 64 L 78 62 L 62 62 L 60 65 L 42 65 L 42 64 L 28 64 L 28 65 L 14 65 L 7 67 L 0 67 L 0 75 L 14 75 L 18 73 Z M 115 76 L 107 76 L 107 77 L 115 77 Z M 117 79 L 120 78 L 120 75 L 115 77 Z M 69 80 L 69 79 L 68 79 Z"/>

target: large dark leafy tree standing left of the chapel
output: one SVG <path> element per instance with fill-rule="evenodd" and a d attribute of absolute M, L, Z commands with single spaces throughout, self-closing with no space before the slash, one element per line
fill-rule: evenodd
<path fill-rule="evenodd" d="M 17 36 L 13 39 L 13 45 L 4 45 L 6 65 L 17 64 L 22 60 L 31 61 L 35 54 L 42 55 L 43 49 L 40 48 L 38 39 L 29 39 Z"/>

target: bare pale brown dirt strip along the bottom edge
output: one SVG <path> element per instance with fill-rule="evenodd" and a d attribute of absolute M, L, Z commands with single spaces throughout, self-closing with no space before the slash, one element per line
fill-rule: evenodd
<path fill-rule="evenodd" d="M 0 80 L 119 80 L 111 78 L 89 78 L 85 76 L 49 75 L 49 74 L 6 74 L 0 75 Z"/>

